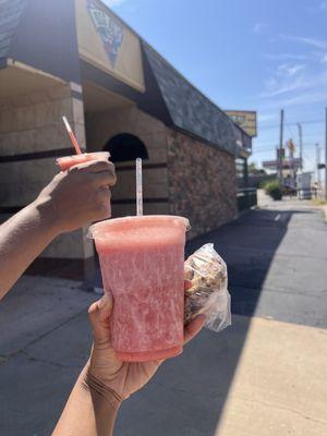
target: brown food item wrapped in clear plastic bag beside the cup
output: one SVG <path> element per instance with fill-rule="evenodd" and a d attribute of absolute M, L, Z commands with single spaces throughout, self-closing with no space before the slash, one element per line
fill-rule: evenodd
<path fill-rule="evenodd" d="M 185 279 L 192 282 L 192 288 L 185 291 L 184 323 L 204 314 L 205 326 L 210 330 L 220 331 L 228 327 L 231 313 L 227 266 L 214 244 L 203 245 L 184 265 Z"/>

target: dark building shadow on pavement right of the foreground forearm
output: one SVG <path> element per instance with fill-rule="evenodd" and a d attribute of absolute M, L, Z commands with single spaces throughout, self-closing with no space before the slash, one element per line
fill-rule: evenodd
<path fill-rule="evenodd" d="M 182 356 L 162 365 L 154 382 L 122 409 L 118 435 L 215 435 L 228 398 L 251 316 L 288 225 L 311 211 L 256 209 L 234 222 L 190 241 L 186 254 L 213 242 L 229 268 L 233 325 L 220 334 L 208 330 Z"/>

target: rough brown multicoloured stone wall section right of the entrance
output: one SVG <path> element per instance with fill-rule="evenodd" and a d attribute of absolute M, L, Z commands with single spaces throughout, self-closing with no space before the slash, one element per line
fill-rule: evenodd
<path fill-rule="evenodd" d="M 190 219 L 190 238 L 235 217 L 235 165 L 231 155 L 170 131 L 168 168 L 170 213 Z"/>

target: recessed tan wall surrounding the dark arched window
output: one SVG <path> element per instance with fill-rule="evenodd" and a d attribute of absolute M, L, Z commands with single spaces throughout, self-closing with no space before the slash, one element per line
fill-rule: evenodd
<path fill-rule="evenodd" d="M 143 162 L 144 213 L 168 214 L 167 128 L 134 106 L 86 114 L 88 150 L 104 149 L 110 138 L 121 133 L 137 136 L 148 153 L 148 159 Z M 135 215 L 134 165 L 134 161 L 117 164 L 118 183 L 112 189 L 113 217 Z"/>

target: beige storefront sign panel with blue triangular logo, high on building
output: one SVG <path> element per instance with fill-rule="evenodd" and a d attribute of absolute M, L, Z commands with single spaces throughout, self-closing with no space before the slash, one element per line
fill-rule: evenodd
<path fill-rule="evenodd" d="M 144 92 L 141 41 L 99 0 L 75 0 L 80 57 Z"/>

